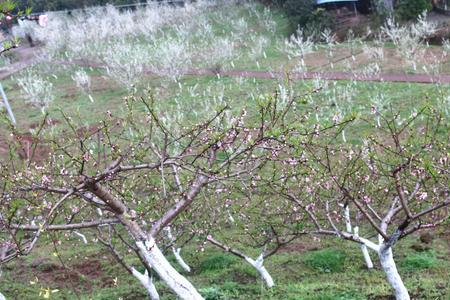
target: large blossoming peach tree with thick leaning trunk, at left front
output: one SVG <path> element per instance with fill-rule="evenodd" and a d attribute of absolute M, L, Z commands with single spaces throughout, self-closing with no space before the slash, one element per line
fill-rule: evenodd
<path fill-rule="evenodd" d="M 84 242 L 94 232 L 152 299 L 159 297 L 152 272 L 181 299 L 202 299 L 160 245 L 176 239 L 171 227 L 179 228 L 179 218 L 203 201 L 202 190 L 253 176 L 267 162 L 270 141 L 298 130 L 287 122 L 294 99 L 275 103 L 261 98 L 253 113 L 220 106 L 202 121 L 180 124 L 151 96 L 127 98 L 125 116 L 108 112 L 89 127 L 62 113 L 65 126 L 48 129 L 46 114 L 25 160 L 17 155 L 22 136 L 12 128 L 1 164 L 1 262 L 27 255 L 48 232 L 72 231 Z M 129 251 L 144 274 L 123 259 Z"/>

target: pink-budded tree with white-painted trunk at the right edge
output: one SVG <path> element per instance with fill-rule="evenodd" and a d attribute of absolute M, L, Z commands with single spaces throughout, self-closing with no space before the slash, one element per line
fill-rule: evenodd
<path fill-rule="evenodd" d="M 326 135 L 306 145 L 301 155 L 309 171 L 286 178 L 278 190 L 310 216 L 318 233 L 374 250 L 396 299 L 407 300 L 393 249 L 408 235 L 449 220 L 449 124 L 431 108 L 407 119 L 381 118 L 381 128 L 367 120 L 375 130 L 360 145 L 341 145 Z M 353 220 L 378 241 L 362 237 L 357 227 L 352 233 L 346 211 L 356 211 L 359 217 Z M 346 230 L 340 229 L 344 223 Z"/>

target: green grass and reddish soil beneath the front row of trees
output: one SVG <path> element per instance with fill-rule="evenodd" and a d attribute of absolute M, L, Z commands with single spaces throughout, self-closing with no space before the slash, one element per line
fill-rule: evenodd
<path fill-rule="evenodd" d="M 392 294 L 374 253 L 371 255 L 375 269 L 368 271 L 356 244 L 336 239 L 318 242 L 310 238 L 296 243 L 317 244 L 324 250 L 282 250 L 268 259 L 265 265 L 276 284 L 271 290 L 264 287 L 248 263 L 210 246 L 204 252 L 198 252 L 194 244 L 183 248 L 184 258 L 193 268 L 193 272 L 186 275 L 207 299 L 363 300 L 387 299 Z M 449 299 L 448 239 L 436 239 L 434 253 L 416 252 L 411 248 L 415 243 L 419 243 L 418 239 L 411 237 L 402 240 L 394 249 L 400 274 L 411 295 L 424 300 Z M 59 290 L 51 295 L 51 299 L 146 299 L 137 280 L 124 272 L 100 245 L 92 242 L 83 245 L 69 237 L 58 248 L 60 258 L 69 270 L 66 273 L 61 262 L 51 254 L 51 243 L 44 240 L 30 256 L 7 264 L 3 268 L 1 284 L 7 299 L 42 299 L 39 297 L 41 288 Z M 430 257 L 434 263 L 424 264 Z M 33 264 L 43 258 L 46 260 L 40 265 Z M 176 266 L 171 256 L 169 259 Z M 131 256 L 128 262 L 139 265 Z M 36 278 L 37 283 L 30 284 Z M 155 280 L 162 299 L 175 299 L 161 281 Z"/>

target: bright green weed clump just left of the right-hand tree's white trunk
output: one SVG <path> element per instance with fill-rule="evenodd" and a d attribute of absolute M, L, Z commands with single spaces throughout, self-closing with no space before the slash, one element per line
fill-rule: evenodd
<path fill-rule="evenodd" d="M 341 272 L 345 263 L 345 253 L 336 249 L 315 251 L 306 258 L 305 263 L 320 272 Z"/>

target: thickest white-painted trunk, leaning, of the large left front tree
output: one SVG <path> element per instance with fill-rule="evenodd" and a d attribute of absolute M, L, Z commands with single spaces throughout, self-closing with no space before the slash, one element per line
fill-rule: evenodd
<path fill-rule="evenodd" d="M 145 243 L 141 241 L 136 242 L 136 246 L 146 262 L 180 299 L 203 300 L 203 297 L 195 287 L 170 265 L 153 238 L 150 238 Z"/>

